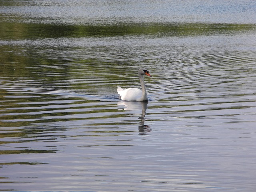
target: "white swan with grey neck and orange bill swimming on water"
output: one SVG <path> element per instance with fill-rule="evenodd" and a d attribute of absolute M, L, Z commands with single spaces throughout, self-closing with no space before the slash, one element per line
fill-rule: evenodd
<path fill-rule="evenodd" d="M 147 101 L 148 100 L 143 75 L 147 75 L 150 77 L 151 75 L 149 74 L 148 70 L 142 69 L 142 68 L 139 69 L 138 74 L 140 78 L 142 91 L 138 88 L 123 89 L 120 86 L 117 86 L 117 92 L 120 95 L 120 99 L 126 100 L 126 101 Z"/>

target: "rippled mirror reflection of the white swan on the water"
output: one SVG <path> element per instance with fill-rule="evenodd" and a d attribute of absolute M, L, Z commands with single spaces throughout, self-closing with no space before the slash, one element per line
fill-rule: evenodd
<path fill-rule="evenodd" d="M 120 101 L 118 105 L 121 105 L 125 111 L 138 111 L 141 110 L 141 116 L 138 118 L 140 120 L 140 124 L 138 126 L 139 132 L 146 133 L 152 131 L 148 125 L 145 125 L 145 116 L 146 110 L 148 108 L 148 101 Z"/>

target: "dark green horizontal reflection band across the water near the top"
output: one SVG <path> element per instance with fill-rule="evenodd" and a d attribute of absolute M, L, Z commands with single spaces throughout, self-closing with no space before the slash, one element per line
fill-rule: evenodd
<path fill-rule="evenodd" d="M 0 23 L 0 39 L 99 37 L 127 35 L 197 36 L 255 30 L 255 24 L 120 23 L 118 25 L 58 25 Z"/>

